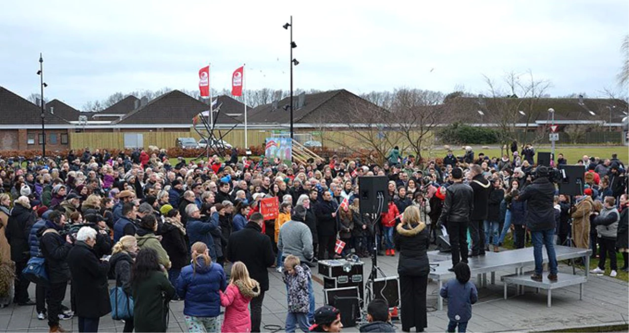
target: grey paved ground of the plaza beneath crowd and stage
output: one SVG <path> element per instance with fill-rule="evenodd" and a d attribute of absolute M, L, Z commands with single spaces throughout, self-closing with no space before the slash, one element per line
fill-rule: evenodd
<path fill-rule="evenodd" d="M 387 276 L 396 275 L 398 257 L 378 257 L 379 267 Z M 446 263 L 448 264 L 448 263 Z M 371 261 L 365 259 L 365 273 L 368 274 Z M 572 273 L 572 268 L 560 264 L 560 271 Z M 313 273 L 316 273 L 316 268 Z M 515 287 L 509 286 L 509 298 L 503 299 L 503 285 L 498 276 L 511 274 L 511 271 L 496 273 L 496 285 L 479 289 L 479 302 L 472 308 L 472 320 L 469 332 L 530 332 L 569 327 L 589 327 L 602 325 L 629 324 L 629 283 L 608 276 L 590 274 L 584 285 L 583 300 L 579 300 L 579 286 L 554 290 L 552 307 L 546 307 L 546 293 L 536 294 L 532 288 L 525 289 L 525 295 L 515 296 Z M 583 271 L 577 274 L 583 274 Z M 270 290 L 264 299 L 263 325 L 283 327 L 286 317 L 286 289 L 281 276 L 274 269 L 269 269 Z M 320 280 L 315 274 L 315 279 Z M 366 278 L 366 276 L 365 276 Z M 472 278 L 475 278 L 473 276 Z M 475 281 L 476 282 L 476 281 Z M 323 287 L 315 282 L 317 306 L 323 303 Z M 69 293 L 68 288 L 68 293 Z M 437 310 L 437 283 L 428 284 L 428 328 L 426 332 L 445 332 L 448 319 L 447 308 Z M 31 298 L 35 299 L 35 290 L 31 286 Z M 64 303 L 69 305 L 69 294 Z M 182 310 L 183 302 L 170 303 L 169 332 L 187 332 Z M 47 332 L 46 320 L 36 318 L 35 307 L 13 307 L 0 309 L 0 332 Z M 72 325 L 78 332 L 77 319 L 62 322 L 66 329 Z M 394 322 L 400 329 L 399 321 Z M 122 332 L 123 323 L 106 316 L 101 319 L 100 332 Z M 274 329 L 263 330 L 273 332 Z M 356 327 L 345 328 L 343 332 L 358 332 Z M 411 331 L 413 332 L 413 331 Z"/>

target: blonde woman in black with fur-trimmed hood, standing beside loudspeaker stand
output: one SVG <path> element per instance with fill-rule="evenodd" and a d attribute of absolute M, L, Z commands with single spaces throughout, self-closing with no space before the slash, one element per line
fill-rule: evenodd
<path fill-rule="evenodd" d="M 426 286 L 428 285 L 428 245 L 430 233 L 420 220 L 420 210 L 409 206 L 404 210 L 403 222 L 396 227 L 395 246 L 399 251 L 398 274 L 402 316 L 402 330 L 417 332 L 428 326 L 426 315 Z"/>

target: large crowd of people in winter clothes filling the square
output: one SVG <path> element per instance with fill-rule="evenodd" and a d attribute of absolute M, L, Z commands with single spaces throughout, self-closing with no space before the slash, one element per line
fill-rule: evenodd
<path fill-rule="evenodd" d="M 99 318 L 112 310 L 108 280 L 115 280 L 135 302 L 125 332 L 164 331 L 169 302 L 176 300 L 184 301 L 190 332 L 260 332 L 268 269 L 276 268 L 287 286 L 288 332 L 340 330 L 334 320 L 321 322 L 336 318 L 334 309 L 315 310 L 310 267 L 376 249 L 399 257 L 402 308 L 412 313 L 401 316 L 402 329 L 420 331 L 427 327 L 426 251 L 445 232 L 451 269 L 463 274 L 465 290 L 459 262 L 498 252 L 509 234 L 515 247 L 533 242 L 533 279 L 542 278 L 542 246 L 554 257 L 553 245 L 570 239 L 593 247 L 600 271 L 610 257 L 615 276 L 616 249 L 625 258 L 621 269 L 629 269 L 622 162 L 615 156 L 576 161 L 587 184 L 571 208 L 569 196 L 557 196 L 548 169 L 534 167 L 534 154 L 530 145 L 501 158 L 474 157 L 469 148 L 462 157 L 448 151 L 442 161 L 420 165 L 396 147 L 384 164 L 337 156 L 253 162 L 232 154 L 227 161 L 179 158 L 173 166 L 164 152 L 112 156 L 86 149 L 80 157 L 38 163 L 0 160 L 0 264 L 13 265 L 15 278 L 14 295 L 0 298 L 0 305 L 35 305 L 50 332 L 64 332 L 60 320 L 73 315 L 81 332 L 96 332 Z M 388 177 L 387 213 L 360 212 L 360 176 Z M 260 202 L 272 197 L 279 212 L 269 218 Z M 340 253 L 337 239 L 346 244 Z M 36 284 L 35 302 L 21 276 L 32 258 L 43 258 L 48 274 L 47 283 Z M 549 267 L 548 277 L 556 278 L 556 260 Z M 324 313 L 319 320 L 318 313 Z"/>

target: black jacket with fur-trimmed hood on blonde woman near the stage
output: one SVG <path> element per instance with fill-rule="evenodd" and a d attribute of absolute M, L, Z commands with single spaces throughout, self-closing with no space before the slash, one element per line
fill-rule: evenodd
<path fill-rule="evenodd" d="M 428 266 L 428 246 L 430 233 L 424 223 L 406 224 L 396 227 L 395 247 L 399 251 L 398 274 L 406 276 L 426 276 L 430 272 Z"/>

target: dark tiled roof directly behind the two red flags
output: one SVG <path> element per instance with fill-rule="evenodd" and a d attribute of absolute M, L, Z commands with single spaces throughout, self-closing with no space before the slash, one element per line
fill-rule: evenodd
<path fill-rule="evenodd" d="M 221 96 L 225 97 L 225 96 Z M 221 103 L 221 97 L 218 99 L 218 104 Z M 226 106 L 228 100 L 223 98 L 223 103 Z M 238 103 L 237 101 L 234 101 Z M 230 102 L 229 104 L 233 104 Z M 179 90 L 170 91 L 158 98 L 148 102 L 145 106 L 133 110 L 128 113 L 120 121 L 116 123 L 124 124 L 182 124 L 187 123 L 192 125 L 192 118 L 198 115 L 200 112 L 209 110 L 208 104 L 205 104 L 198 99 L 194 99 L 187 94 L 182 93 Z M 244 106 L 242 111 L 244 111 Z M 221 124 L 235 124 L 237 120 L 225 115 L 230 113 L 221 107 L 221 112 L 218 116 L 217 123 Z M 216 115 L 216 113 L 214 113 Z"/>

